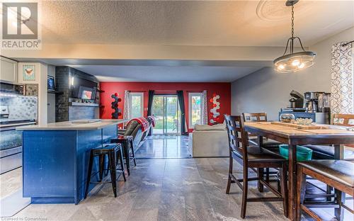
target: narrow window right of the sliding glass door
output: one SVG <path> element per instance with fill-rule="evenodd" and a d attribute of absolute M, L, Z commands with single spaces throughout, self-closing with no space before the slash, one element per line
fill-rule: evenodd
<path fill-rule="evenodd" d="M 189 93 L 188 106 L 188 125 L 193 129 L 195 124 L 202 124 L 202 93 Z"/>

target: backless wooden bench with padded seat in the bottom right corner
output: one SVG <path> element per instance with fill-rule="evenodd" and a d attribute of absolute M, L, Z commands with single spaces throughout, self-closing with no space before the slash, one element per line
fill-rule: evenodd
<path fill-rule="evenodd" d="M 304 202 L 307 176 L 326 183 L 336 189 L 336 200 L 331 205 L 307 205 Z M 297 220 L 301 220 L 302 211 L 306 212 L 314 220 L 321 220 L 316 215 L 314 207 L 333 207 L 337 220 L 343 220 L 343 208 L 354 214 L 353 209 L 345 205 L 346 193 L 354 195 L 354 163 L 345 160 L 322 159 L 297 164 Z"/>

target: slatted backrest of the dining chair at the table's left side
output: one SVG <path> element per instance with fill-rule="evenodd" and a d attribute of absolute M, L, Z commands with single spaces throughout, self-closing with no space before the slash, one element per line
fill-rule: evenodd
<path fill-rule="evenodd" d="M 233 151 L 243 156 L 244 162 L 247 161 L 248 134 L 244 131 L 244 119 L 241 116 L 224 115 L 227 125 L 227 135 L 229 137 L 230 156 Z"/>

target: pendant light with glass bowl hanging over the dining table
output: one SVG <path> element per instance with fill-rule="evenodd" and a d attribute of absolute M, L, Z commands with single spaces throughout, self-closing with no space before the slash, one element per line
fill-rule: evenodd
<path fill-rule="evenodd" d="M 299 37 L 294 37 L 294 5 L 299 0 L 287 0 L 285 5 L 291 7 L 291 38 L 287 40 L 284 55 L 274 60 L 275 69 L 278 72 L 297 72 L 311 67 L 314 64 L 315 52 L 305 51 Z M 299 40 L 302 51 L 294 52 L 294 42 Z M 288 52 L 289 50 L 289 52 Z"/>

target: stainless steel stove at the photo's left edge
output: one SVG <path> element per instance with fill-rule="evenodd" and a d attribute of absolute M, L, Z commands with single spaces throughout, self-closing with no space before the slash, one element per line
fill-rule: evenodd
<path fill-rule="evenodd" d="M 8 107 L 0 106 L 0 174 L 22 166 L 22 132 L 16 127 L 32 124 L 34 119 L 8 119 Z"/>

